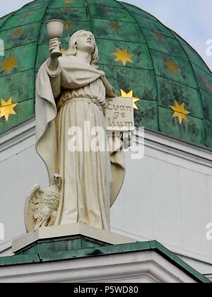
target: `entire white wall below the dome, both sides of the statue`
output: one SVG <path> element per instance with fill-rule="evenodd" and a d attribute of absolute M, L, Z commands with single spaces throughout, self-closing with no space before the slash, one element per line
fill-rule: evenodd
<path fill-rule="evenodd" d="M 0 140 L 5 226 L 0 255 L 10 254 L 11 240 L 25 232 L 23 207 L 30 188 L 47 187 L 47 171 L 34 148 L 34 124 L 31 120 Z M 158 240 L 201 273 L 212 274 L 212 240 L 206 239 L 206 225 L 212 223 L 212 152 L 155 132 L 145 135 L 142 159 L 126 153 L 126 178 L 111 209 L 112 231 Z"/>

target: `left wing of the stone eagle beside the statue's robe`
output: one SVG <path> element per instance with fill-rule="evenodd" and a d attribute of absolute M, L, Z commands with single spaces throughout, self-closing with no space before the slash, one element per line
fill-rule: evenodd
<path fill-rule="evenodd" d="M 25 201 L 25 228 L 28 232 L 33 231 L 36 224 L 35 213 L 39 211 L 42 197 L 45 194 L 40 185 L 35 185 Z"/>

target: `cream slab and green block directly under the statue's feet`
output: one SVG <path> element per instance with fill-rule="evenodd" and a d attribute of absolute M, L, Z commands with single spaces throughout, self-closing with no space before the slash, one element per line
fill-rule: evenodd
<path fill-rule="evenodd" d="M 105 245 L 136 243 L 136 240 L 82 224 L 42 227 L 13 241 L 16 255 L 98 248 Z"/>

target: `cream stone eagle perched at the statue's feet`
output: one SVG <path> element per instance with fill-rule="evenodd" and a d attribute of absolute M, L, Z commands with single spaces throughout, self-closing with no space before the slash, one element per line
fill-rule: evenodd
<path fill-rule="evenodd" d="M 53 226 L 61 197 L 62 179 L 58 174 L 52 177 L 50 187 L 42 190 L 35 185 L 25 202 L 25 227 L 28 232 L 42 226 Z"/>

